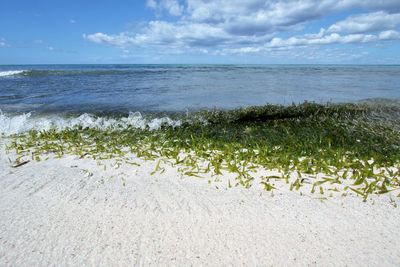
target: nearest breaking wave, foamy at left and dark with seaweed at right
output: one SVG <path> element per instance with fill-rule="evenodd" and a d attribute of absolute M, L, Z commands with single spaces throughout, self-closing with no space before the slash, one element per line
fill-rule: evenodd
<path fill-rule="evenodd" d="M 293 120 L 302 118 L 361 118 L 374 121 L 379 127 L 388 125 L 400 133 L 400 101 L 387 99 L 367 99 L 358 103 L 317 104 L 304 102 L 298 105 L 249 106 L 231 110 L 204 109 L 193 113 L 177 112 L 160 115 L 150 113 L 143 116 L 140 112 L 93 115 L 61 115 L 47 113 L 32 116 L 32 113 L 20 115 L 5 114 L 0 110 L 0 136 L 28 132 L 30 130 L 47 131 L 51 129 L 82 127 L 99 130 L 124 130 L 128 128 L 158 130 L 163 126 L 179 127 L 186 123 L 201 124 L 242 124 L 273 120 Z M 172 119 L 174 118 L 174 119 Z M 379 129 L 379 128 L 377 128 Z"/>

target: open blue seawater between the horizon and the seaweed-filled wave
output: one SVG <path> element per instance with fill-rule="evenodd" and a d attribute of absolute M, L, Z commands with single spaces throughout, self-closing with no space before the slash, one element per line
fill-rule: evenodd
<path fill-rule="evenodd" d="M 0 110 L 6 114 L 168 112 L 371 98 L 400 99 L 400 66 L 0 66 Z"/>

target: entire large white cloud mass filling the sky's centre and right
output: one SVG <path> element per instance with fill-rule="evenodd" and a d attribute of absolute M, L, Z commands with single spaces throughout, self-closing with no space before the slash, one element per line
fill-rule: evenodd
<path fill-rule="evenodd" d="M 140 47 L 166 53 L 183 50 L 207 53 L 259 53 L 271 49 L 329 44 L 371 43 L 399 39 L 399 0 L 147 0 L 158 15 L 176 21 L 150 21 L 133 32 L 84 34 L 84 39 L 120 47 Z M 350 16 L 318 33 L 278 38 L 301 32 L 307 23 L 343 11 L 369 13 Z M 160 49 L 162 47 L 162 49 Z"/>

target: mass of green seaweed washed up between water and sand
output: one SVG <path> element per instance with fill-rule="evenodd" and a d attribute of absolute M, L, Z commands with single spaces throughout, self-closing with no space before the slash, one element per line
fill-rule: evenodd
<path fill-rule="evenodd" d="M 252 186 L 254 172 L 261 168 L 277 173 L 262 177 L 267 191 L 276 189 L 278 180 L 290 190 L 299 190 L 308 181 L 311 193 L 351 191 L 366 200 L 371 194 L 400 188 L 399 114 L 397 106 L 367 104 L 205 110 L 182 115 L 179 127 L 164 125 L 158 130 L 32 130 L 14 135 L 9 149 L 33 160 L 49 153 L 74 154 L 115 159 L 119 164 L 129 163 L 126 155 L 133 153 L 157 160 L 152 174 L 163 172 L 162 164 L 176 165 L 182 174 L 193 177 L 226 171 L 234 173 L 236 184 L 245 188 Z"/>

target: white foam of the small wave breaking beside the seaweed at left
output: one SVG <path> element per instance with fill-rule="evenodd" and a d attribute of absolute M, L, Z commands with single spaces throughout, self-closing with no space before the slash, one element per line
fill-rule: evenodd
<path fill-rule="evenodd" d="M 168 117 L 146 119 L 139 112 L 131 112 L 129 116 L 122 118 L 96 117 L 90 114 L 82 114 L 75 118 L 63 118 L 57 115 L 46 117 L 32 117 L 31 113 L 17 116 L 7 116 L 0 110 L 0 133 L 5 135 L 24 133 L 29 130 L 49 130 L 52 128 L 62 130 L 68 127 L 89 127 L 96 129 L 125 129 L 134 127 L 157 130 L 163 125 L 179 126 L 181 121 Z"/>

